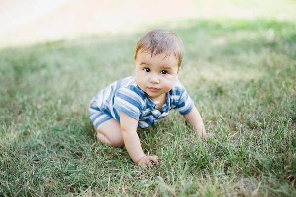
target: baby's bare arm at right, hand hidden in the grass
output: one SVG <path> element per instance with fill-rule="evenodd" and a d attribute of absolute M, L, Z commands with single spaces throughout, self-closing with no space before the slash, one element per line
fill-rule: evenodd
<path fill-rule="evenodd" d="M 194 128 L 197 136 L 200 139 L 208 139 L 208 135 L 207 135 L 204 123 L 195 106 L 193 106 L 192 110 L 189 113 L 184 115 L 184 118 Z"/>

